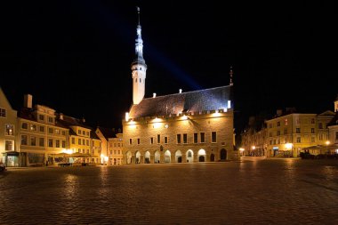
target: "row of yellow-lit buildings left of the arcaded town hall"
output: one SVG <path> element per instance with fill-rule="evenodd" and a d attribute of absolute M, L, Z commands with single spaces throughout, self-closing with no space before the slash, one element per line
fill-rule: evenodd
<path fill-rule="evenodd" d="M 84 119 L 33 106 L 14 110 L 0 88 L 0 162 L 7 166 L 122 164 L 122 133 L 86 125 Z"/>

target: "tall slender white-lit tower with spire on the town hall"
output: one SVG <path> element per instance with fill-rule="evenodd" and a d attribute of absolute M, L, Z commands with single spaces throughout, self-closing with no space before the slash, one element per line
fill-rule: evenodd
<path fill-rule="evenodd" d="M 133 104 L 141 102 L 145 92 L 147 65 L 143 59 L 143 41 L 141 37 L 140 8 L 137 7 L 138 25 L 136 28 L 135 57 L 132 62 Z"/>

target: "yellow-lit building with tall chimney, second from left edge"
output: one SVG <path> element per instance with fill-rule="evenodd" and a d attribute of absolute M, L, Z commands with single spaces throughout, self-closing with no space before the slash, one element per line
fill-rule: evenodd
<path fill-rule="evenodd" d="M 19 154 L 18 165 L 42 166 L 52 155 L 68 149 L 68 128 L 56 122 L 55 110 L 43 105 L 32 107 L 32 96 L 25 95 L 24 107 L 18 116 Z"/>

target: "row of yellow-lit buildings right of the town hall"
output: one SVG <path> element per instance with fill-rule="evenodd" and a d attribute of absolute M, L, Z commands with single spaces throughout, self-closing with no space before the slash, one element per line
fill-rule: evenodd
<path fill-rule="evenodd" d="M 299 157 L 338 153 L 338 97 L 334 111 L 297 113 L 294 108 L 278 110 L 272 118 L 251 117 L 241 134 L 245 156 Z"/>

